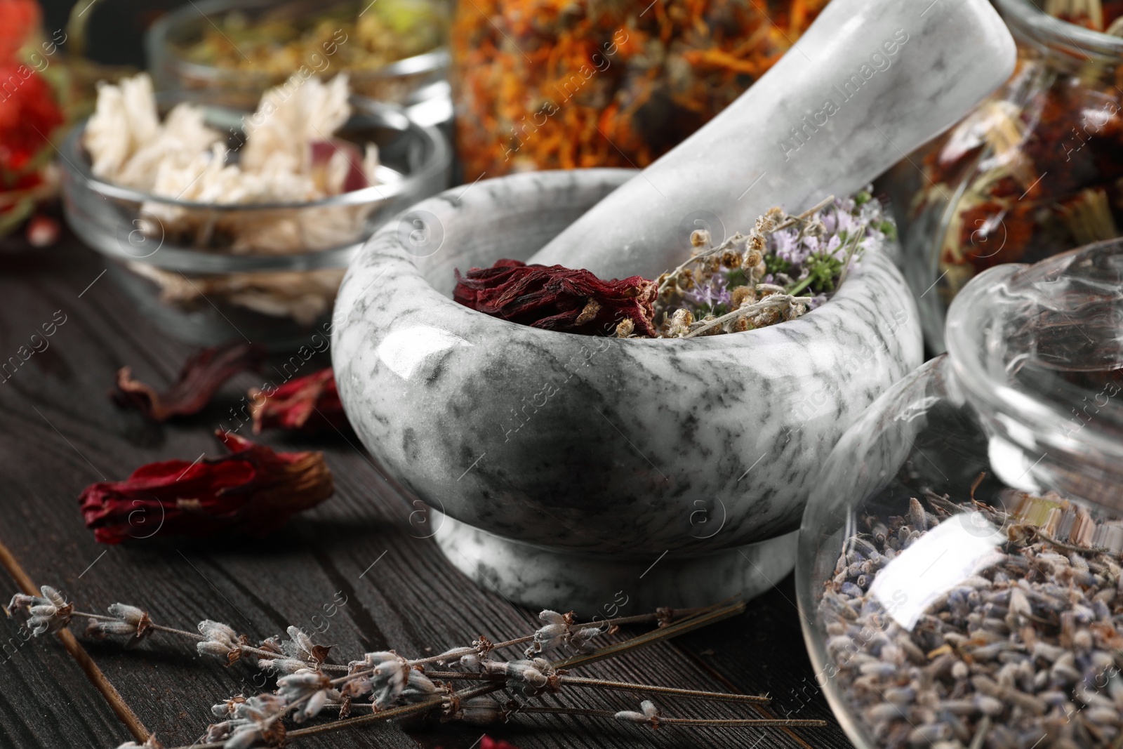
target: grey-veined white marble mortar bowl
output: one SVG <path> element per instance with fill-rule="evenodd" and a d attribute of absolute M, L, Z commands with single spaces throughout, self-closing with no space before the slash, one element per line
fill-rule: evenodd
<path fill-rule="evenodd" d="M 453 301 L 454 268 L 529 257 L 632 174 L 447 191 L 372 237 L 339 290 L 332 362 L 350 422 L 396 481 L 455 519 L 438 540 L 476 578 L 486 555 L 451 554 L 457 539 L 480 546 L 475 529 L 560 555 L 563 568 L 666 552 L 669 574 L 746 545 L 759 558 L 760 541 L 786 559 L 836 440 L 921 363 L 915 305 L 882 250 L 798 320 L 690 340 L 539 330 Z M 551 578 L 528 581 L 524 556 L 487 578 L 545 603 Z M 740 585 L 731 574 L 722 590 Z"/>

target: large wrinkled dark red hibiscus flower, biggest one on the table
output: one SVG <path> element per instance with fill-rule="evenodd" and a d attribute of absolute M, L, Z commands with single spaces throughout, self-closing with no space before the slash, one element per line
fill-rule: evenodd
<path fill-rule="evenodd" d="M 265 536 L 335 491 L 322 453 L 275 453 L 231 432 L 216 435 L 230 455 L 150 463 L 125 481 L 86 486 L 82 517 L 94 539 Z"/>

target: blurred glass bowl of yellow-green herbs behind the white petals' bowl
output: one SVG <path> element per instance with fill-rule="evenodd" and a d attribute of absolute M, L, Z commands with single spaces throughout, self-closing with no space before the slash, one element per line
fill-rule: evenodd
<path fill-rule="evenodd" d="M 146 46 L 159 91 L 253 109 L 272 86 L 346 72 L 354 93 L 447 125 L 447 25 L 445 0 L 207 0 L 153 24 Z"/>

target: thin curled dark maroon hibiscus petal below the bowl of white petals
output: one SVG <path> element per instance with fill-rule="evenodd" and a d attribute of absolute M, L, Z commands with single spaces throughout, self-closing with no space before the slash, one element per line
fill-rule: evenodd
<path fill-rule="evenodd" d="M 117 373 L 113 400 L 121 407 L 143 411 L 156 421 L 191 415 L 210 402 L 222 383 L 244 369 L 256 368 L 264 358 L 265 349 L 257 344 L 229 341 L 204 348 L 183 363 L 180 378 L 163 393 L 134 380 L 129 367 L 121 367 Z"/>

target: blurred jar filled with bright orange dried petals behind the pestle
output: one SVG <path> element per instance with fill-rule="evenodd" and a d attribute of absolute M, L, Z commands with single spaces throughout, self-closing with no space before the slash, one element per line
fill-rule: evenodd
<path fill-rule="evenodd" d="M 647 166 L 764 75 L 825 4 L 459 0 L 464 176 Z"/>

